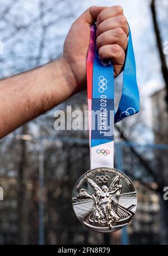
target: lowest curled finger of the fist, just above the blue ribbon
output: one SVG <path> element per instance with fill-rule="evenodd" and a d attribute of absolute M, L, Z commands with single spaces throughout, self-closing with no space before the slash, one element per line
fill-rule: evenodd
<path fill-rule="evenodd" d="M 103 61 L 111 60 L 114 65 L 115 76 L 122 71 L 125 62 L 125 52 L 118 44 L 105 45 L 99 49 L 99 57 Z"/>

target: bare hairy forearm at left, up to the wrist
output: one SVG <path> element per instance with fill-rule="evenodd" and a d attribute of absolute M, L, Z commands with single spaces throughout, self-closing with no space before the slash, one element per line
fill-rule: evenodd
<path fill-rule="evenodd" d="M 75 92 L 75 83 L 63 58 L 1 80 L 0 137 L 68 99 Z"/>

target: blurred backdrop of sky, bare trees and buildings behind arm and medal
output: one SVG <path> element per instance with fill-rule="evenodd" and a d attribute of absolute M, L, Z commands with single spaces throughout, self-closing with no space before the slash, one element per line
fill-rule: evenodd
<path fill-rule="evenodd" d="M 127 229 L 104 235 L 73 213 L 72 189 L 90 169 L 88 132 L 55 131 L 54 111 L 85 111 L 83 92 L 0 141 L 0 244 L 168 244 L 167 0 L 1 0 L 0 77 L 59 56 L 87 7 L 115 4 L 132 29 L 141 93 L 141 112 L 115 127 L 115 167 L 134 181 L 136 216 Z"/>

